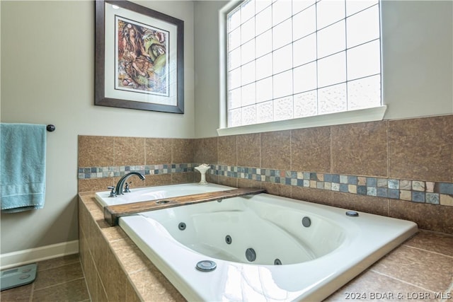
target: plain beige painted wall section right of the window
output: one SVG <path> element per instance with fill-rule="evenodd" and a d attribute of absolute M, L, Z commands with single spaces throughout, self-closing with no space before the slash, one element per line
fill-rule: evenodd
<path fill-rule="evenodd" d="M 452 30 L 452 1 L 382 1 L 384 118 L 453 112 Z"/>

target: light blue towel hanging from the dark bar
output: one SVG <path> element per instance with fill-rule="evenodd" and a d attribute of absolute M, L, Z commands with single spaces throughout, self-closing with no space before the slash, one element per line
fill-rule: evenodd
<path fill-rule="evenodd" d="M 42 209 L 45 200 L 46 126 L 0 124 L 2 213 Z"/>

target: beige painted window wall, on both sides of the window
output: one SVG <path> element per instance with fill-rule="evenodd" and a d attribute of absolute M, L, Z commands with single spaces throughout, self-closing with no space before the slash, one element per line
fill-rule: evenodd
<path fill-rule="evenodd" d="M 195 1 L 195 134 L 219 128 L 219 9 Z M 382 1 L 384 119 L 453 113 L 453 2 Z M 200 43 L 200 42 L 199 42 Z"/>

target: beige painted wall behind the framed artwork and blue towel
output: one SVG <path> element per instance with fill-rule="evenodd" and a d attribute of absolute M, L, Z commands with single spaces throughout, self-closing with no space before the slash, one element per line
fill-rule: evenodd
<path fill-rule="evenodd" d="M 193 2 L 139 4 L 185 22 L 184 115 L 93 105 L 93 1 L 1 1 L 1 122 L 57 127 L 47 136 L 45 207 L 1 215 L 2 254 L 78 238 L 79 134 L 194 136 Z"/>

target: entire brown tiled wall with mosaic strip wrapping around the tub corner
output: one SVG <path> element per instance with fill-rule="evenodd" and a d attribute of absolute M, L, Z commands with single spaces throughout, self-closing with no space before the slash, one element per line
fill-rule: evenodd
<path fill-rule="evenodd" d="M 212 165 L 210 182 L 453 233 L 453 115 L 206 139 L 79 137 L 79 191 L 105 190 L 127 170 L 149 175 L 138 185 L 193 182 L 197 163 Z"/>

